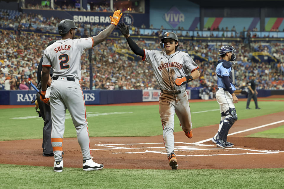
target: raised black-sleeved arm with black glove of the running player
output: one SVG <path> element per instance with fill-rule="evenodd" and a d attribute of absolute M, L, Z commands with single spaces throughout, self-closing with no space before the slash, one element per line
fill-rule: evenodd
<path fill-rule="evenodd" d="M 120 23 L 117 28 L 120 30 L 122 35 L 124 35 L 124 37 L 126 38 L 127 43 L 130 49 L 133 51 L 133 53 L 139 56 L 143 56 L 144 54 L 143 49 L 139 48 L 138 45 L 130 37 L 129 26 L 126 26 L 124 23 Z"/>

